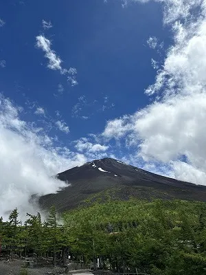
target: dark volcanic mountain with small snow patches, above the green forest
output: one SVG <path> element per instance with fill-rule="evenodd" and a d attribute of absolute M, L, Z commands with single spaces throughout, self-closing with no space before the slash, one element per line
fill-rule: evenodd
<path fill-rule="evenodd" d="M 39 199 L 43 208 L 75 208 L 88 198 L 187 199 L 206 201 L 206 186 L 162 177 L 116 159 L 98 159 L 57 175 L 70 186 Z"/>

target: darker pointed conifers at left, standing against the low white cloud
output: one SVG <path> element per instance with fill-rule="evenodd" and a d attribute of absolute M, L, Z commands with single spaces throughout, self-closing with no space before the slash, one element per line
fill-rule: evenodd
<path fill-rule="evenodd" d="M 15 208 L 8 218 L 8 221 L 0 219 L 0 254 L 9 255 L 10 259 L 14 254 L 18 256 L 53 256 L 56 266 L 56 255 L 65 249 L 66 238 L 64 227 L 58 224 L 58 214 L 53 206 L 46 221 L 41 220 L 41 214 L 27 213 L 27 219 L 23 224 L 18 219 L 19 212 Z M 62 261 L 65 261 L 62 255 Z"/>

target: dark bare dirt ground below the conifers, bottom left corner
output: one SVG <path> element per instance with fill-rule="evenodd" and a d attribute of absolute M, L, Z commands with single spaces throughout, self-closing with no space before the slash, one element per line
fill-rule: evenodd
<path fill-rule="evenodd" d="M 16 259 L 14 261 L 0 261 L 0 275 L 19 275 L 23 267 L 23 260 Z M 27 268 L 28 275 L 46 275 L 46 274 L 65 274 L 61 267 L 34 267 Z"/>

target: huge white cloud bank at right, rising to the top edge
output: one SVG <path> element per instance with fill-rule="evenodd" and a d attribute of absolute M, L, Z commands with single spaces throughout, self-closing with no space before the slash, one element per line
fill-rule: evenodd
<path fill-rule="evenodd" d="M 206 185 L 206 1 L 159 2 L 174 45 L 155 84 L 146 89 L 146 94 L 157 94 L 157 100 L 133 115 L 107 122 L 103 136 L 124 137 L 126 146 L 136 148 L 145 162 L 167 166 L 177 179 Z"/>

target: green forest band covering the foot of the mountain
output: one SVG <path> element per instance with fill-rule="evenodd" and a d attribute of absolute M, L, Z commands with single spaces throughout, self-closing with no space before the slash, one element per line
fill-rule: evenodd
<path fill-rule="evenodd" d="M 206 274 L 206 203 L 110 201 L 65 212 L 52 207 L 47 219 L 14 209 L 0 219 L 1 256 L 67 255 L 93 268 L 155 275 Z M 97 264 L 98 263 L 98 264 Z"/>

